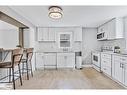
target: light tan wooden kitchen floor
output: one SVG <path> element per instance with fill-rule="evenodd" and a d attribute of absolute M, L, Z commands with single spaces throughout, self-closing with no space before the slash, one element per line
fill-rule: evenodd
<path fill-rule="evenodd" d="M 39 70 L 17 89 L 124 89 L 93 68 L 82 70 Z"/>

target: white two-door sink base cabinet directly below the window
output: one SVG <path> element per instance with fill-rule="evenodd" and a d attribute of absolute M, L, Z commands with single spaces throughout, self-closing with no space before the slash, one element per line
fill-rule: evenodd
<path fill-rule="evenodd" d="M 57 53 L 57 68 L 75 68 L 75 53 Z"/>

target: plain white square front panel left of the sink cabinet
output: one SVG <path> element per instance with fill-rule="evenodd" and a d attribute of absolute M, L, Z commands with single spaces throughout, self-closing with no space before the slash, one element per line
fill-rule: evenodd
<path fill-rule="evenodd" d="M 56 66 L 56 53 L 45 53 L 44 54 L 44 65 L 45 66 Z"/>

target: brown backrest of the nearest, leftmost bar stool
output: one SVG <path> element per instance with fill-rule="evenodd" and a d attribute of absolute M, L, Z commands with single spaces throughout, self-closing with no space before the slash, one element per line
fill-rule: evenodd
<path fill-rule="evenodd" d="M 14 49 L 12 51 L 12 66 L 20 64 L 22 56 L 23 49 Z"/>

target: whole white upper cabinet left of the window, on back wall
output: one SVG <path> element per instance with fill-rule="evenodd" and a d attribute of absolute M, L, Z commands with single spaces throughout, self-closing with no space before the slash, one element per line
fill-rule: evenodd
<path fill-rule="evenodd" d="M 55 41 L 54 28 L 37 28 L 38 41 Z"/>

